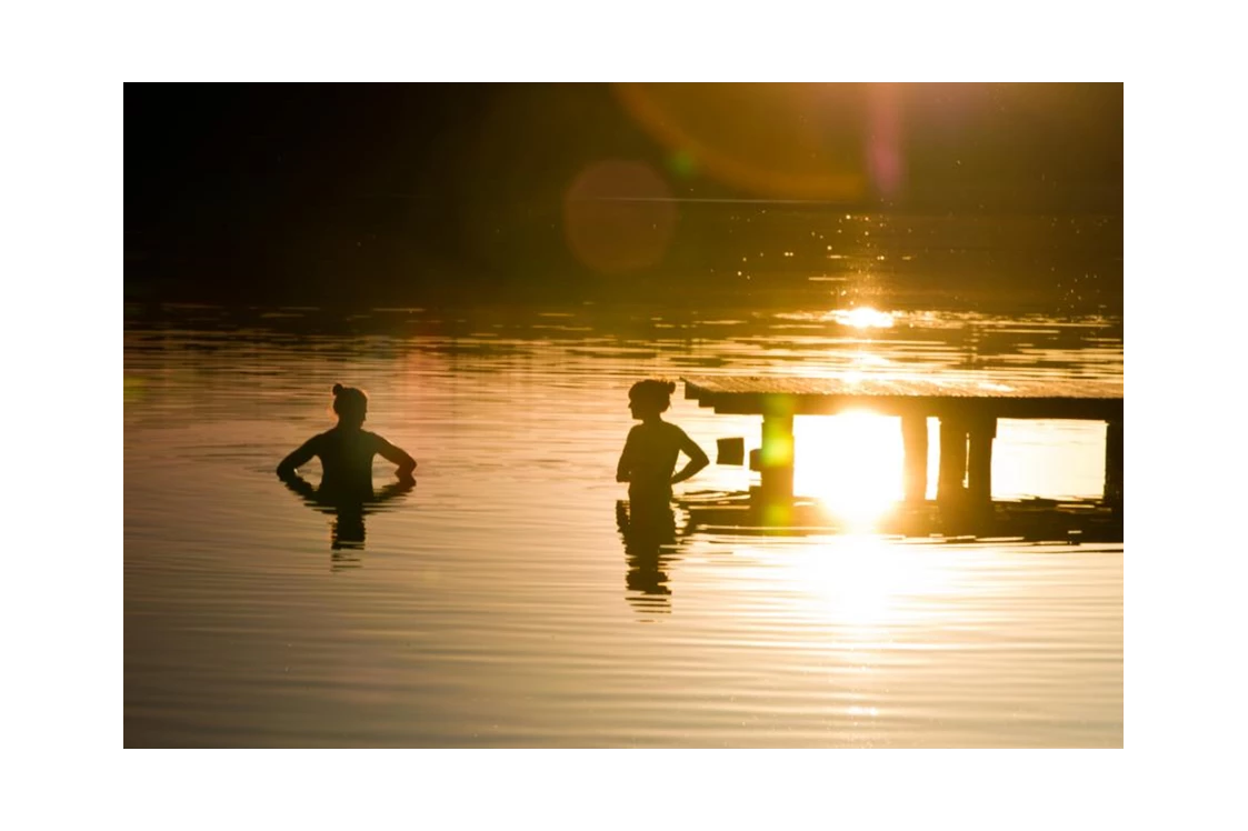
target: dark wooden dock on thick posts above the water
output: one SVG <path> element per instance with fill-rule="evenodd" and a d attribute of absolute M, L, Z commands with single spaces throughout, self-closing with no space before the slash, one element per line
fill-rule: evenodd
<path fill-rule="evenodd" d="M 794 415 L 835 415 L 867 411 L 901 417 L 905 494 L 921 500 L 927 492 L 927 419 L 940 420 L 940 469 L 936 499 L 977 508 L 992 503 L 992 440 L 997 419 L 1099 420 L 1106 429 L 1106 503 L 1122 504 L 1121 382 L 842 376 L 806 378 L 690 377 L 685 398 L 716 413 L 763 417 L 763 445 L 756 469 L 766 500 L 792 499 Z"/>

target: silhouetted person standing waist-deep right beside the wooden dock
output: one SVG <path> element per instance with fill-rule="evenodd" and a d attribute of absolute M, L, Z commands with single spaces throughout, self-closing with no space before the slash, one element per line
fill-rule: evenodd
<path fill-rule="evenodd" d="M 675 424 L 663 420 L 671 406 L 676 384 L 670 381 L 639 381 L 628 391 L 633 418 L 641 420 L 629 430 L 624 452 L 615 469 L 617 482 L 628 482 L 633 513 L 638 503 L 649 505 L 671 502 L 671 485 L 684 482 L 710 464 L 698 443 Z M 684 453 L 689 463 L 673 475 L 676 459 Z"/>

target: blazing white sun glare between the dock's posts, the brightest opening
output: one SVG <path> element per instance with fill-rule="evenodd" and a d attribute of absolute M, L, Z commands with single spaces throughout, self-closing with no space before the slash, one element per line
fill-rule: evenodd
<path fill-rule="evenodd" d="M 794 418 L 794 493 L 867 530 L 902 498 L 901 419 L 875 413 Z"/>

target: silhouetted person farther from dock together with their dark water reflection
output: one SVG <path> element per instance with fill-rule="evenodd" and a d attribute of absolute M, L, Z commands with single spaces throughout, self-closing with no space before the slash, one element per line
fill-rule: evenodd
<path fill-rule="evenodd" d="M 416 459 L 377 433 L 363 429 L 368 414 L 368 398 L 363 391 L 334 384 L 333 397 L 338 425 L 313 435 L 282 459 L 277 475 L 310 507 L 334 517 L 334 550 L 359 549 L 364 545 L 364 515 L 416 487 L 412 477 Z M 397 465 L 398 480 L 381 490 L 373 490 L 374 455 Z M 319 487 L 313 487 L 298 474 L 298 468 L 313 457 L 321 459 Z"/>

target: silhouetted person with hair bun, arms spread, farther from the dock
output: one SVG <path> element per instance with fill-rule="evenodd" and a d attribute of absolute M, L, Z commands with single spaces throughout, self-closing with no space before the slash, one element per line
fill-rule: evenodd
<path fill-rule="evenodd" d="M 373 487 L 373 457 L 379 455 L 398 465 L 399 479 L 411 479 L 416 459 L 377 433 L 363 429 L 368 415 L 368 397 L 354 387 L 333 386 L 333 412 L 338 425 L 313 435 L 277 465 L 277 475 L 290 479 L 302 464 L 321 459 L 319 493 L 364 494 Z"/>

